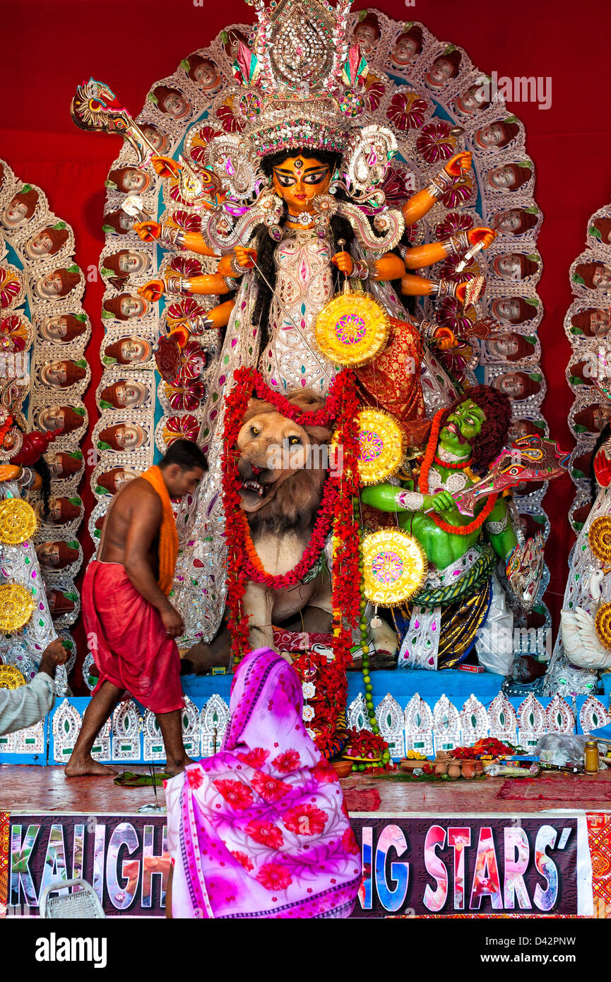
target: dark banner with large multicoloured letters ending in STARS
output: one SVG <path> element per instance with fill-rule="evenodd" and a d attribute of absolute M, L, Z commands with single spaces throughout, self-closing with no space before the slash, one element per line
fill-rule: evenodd
<path fill-rule="evenodd" d="M 597 817 L 597 828 L 609 828 Z M 9 916 L 36 915 L 49 884 L 73 877 L 92 884 L 107 916 L 163 916 L 165 822 L 163 815 L 11 816 Z M 584 814 L 373 814 L 351 822 L 363 865 L 355 917 L 593 914 Z"/>

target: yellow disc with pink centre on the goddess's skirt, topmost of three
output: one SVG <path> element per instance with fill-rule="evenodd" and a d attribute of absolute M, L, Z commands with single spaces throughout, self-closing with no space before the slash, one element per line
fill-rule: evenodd
<path fill-rule="evenodd" d="M 329 360 L 361 365 L 385 348 L 390 324 L 384 307 L 366 294 L 339 294 L 316 320 L 316 344 Z"/>

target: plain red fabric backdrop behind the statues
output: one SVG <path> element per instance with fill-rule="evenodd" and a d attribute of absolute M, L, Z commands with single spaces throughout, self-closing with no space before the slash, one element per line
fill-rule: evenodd
<path fill-rule="evenodd" d="M 19 178 L 45 191 L 50 206 L 75 230 L 77 261 L 91 277 L 84 307 L 93 324 L 88 348 L 93 378 L 84 402 L 92 422 L 102 337 L 97 259 L 103 245 L 104 180 L 120 140 L 78 130 L 70 119 L 70 100 L 76 84 L 93 76 L 108 82 L 136 115 L 151 82 L 170 75 L 181 58 L 222 27 L 253 19 L 252 8 L 242 0 L 202 2 L 13 0 L 3 6 L 0 157 Z M 361 0 L 355 3 L 357 10 L 365 6 Z M 543 411 L 552 435 L 570 448 L 572 394 L 564 374 L 570 346 L 562 321 L 572 299 L 569 265 L 583 247 L 589 215 L 608 200 L 611 186 L 611 6 L 599 0 L 470 5 L 416 0 L 412 6 L 377 0 L 371 6 L 397 20 L 420 21 L 440 39 L 462 45 L 486 74 L 551 79 L 548 110 L 532 103 L 511 108 L 526 125 L 528 153 L 536 166 L 535 198 L 545 216 L 539 236 L 544 263 L 539 295 L 545 306 L 539 337 L 548 385 Z M 88 514 L 93 499 L 85 481 L 81 491 Z M 555 625 L 574 538 L 567 520 L 572 497 L 573 484 L 563 478 L 552 484 L 544 501 L 552 522 L 546 599 Z M 91 543 L 84 524 L 81 538 L 88 558 Z"/>

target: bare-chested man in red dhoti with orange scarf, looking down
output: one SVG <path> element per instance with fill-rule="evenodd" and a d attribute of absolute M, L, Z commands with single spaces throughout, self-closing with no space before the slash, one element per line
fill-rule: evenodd
<path fill-rule="evenodd" d="M 96 559 L 83 581 L 83 617 L 99 681 L 66 765 L 67 777 L 117 772 L 91 757 L 99 730 L 126 692 L 157 718 L 167 772 L 190 763 L 183 744 L 183 690 L 175 637 L 185 627 L 168 600 L 178 555 L 171 498 L 193 494 L 207 469 L 190 440 L 130 481 L 108 510 Z"/>

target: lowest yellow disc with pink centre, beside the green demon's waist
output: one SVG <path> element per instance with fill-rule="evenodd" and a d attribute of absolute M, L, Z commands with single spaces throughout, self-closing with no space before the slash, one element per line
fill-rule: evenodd
<path fill-rule="evenodd" d="M 417 593 L 428 571 L 426 554 L 413 535 L 382 528 L 362 542 L 364 595 L 373 604 L 394 607 Z"/>

